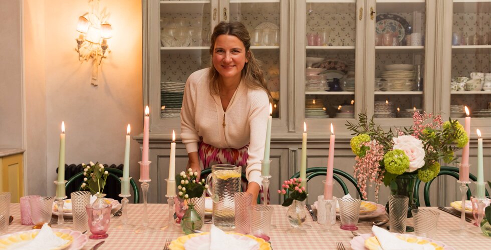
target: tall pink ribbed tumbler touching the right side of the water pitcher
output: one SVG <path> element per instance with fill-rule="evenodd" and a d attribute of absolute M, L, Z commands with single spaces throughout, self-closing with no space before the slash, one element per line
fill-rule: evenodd
<path fill-rule="evenodd" d="M 253 202 L 253 194 L 249 192 L 236 192 L 233 194 L 235 203 L 235 232 L 248 234 L 251 229 L 249 213 Z"/>

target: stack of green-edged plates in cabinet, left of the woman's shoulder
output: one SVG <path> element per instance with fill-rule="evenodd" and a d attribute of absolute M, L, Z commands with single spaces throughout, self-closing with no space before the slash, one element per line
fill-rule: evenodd
<path fill-rule="evenodd" d="M 160 117 L 178 118 L 181 113 L 185 82 L 160 83 Z"/>

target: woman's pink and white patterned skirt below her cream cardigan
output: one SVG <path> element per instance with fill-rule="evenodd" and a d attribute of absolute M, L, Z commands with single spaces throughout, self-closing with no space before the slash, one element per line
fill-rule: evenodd
<path fill-rule="evenodd" d="M 235 148 L 217 148 L 210 144 L 203 142 L 202 140 L 198 143 L 198 158 L 199 166 L 201 169 L 210 168 L 215 164 L 231 164 L 236 166 L 242 166 L 242 172 L 246 172 L 247 159 L 249 154 L 247 149 L 249 144 L 235 149 Z M 247 190 L 247 180 L 242 179 L 242 190 Z M 269 190 L 268 190 L 269 193 Z M 261 200 L 264 201 L 263 188 L 259 191 Z M 268 198 L 269 200 L 269 198 Z"/>

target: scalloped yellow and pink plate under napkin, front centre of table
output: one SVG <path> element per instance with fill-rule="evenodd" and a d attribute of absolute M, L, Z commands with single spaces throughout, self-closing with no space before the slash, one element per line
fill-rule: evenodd
<path fill-rule="evenodd" d="M 180 237 L 172 240 L 172 242 L 170 242 L 169 249 L 171 249 L 171 250 L 198 249 L 198 248 L 194 248 L 194 247 L 201 247 L 202 245 L 209 244 L 209 237 L 205 236 L 207 234 L 209 234 L 209 232 L 191 233 L 188 235 L 180 236 Z M 255 237 L 255 236 L 249 235 L 249 234 L 241 234 L 241 233 L 236 233 L 236 232 L 227 232 L 227 234 L 235 234 L 235 235 L 237 235 L 237 237 L 248 237 L 248 238 L 251 238 L 253 240 L 256 240 L 259 244 L 260 250 L 271 249 L 270 243 L 266 242 L 262 238 L 258 238 L 258 237 Z M 195 237 L 196 237 L 196 239 L 193 239 Z M 191 247 L 191 248 L 187 248 L 187 247 Z M 201 248 L 199 248 L 199 249 L 201 249 Z"/>

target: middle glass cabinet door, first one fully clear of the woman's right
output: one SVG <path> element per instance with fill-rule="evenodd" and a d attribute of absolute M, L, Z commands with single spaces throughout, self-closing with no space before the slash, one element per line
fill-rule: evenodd
<path fill-rule="evenodd" d="M 354 117 L 357 15 L 356 0 L 306 1 L 306 119 Z"/>

